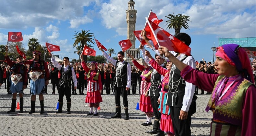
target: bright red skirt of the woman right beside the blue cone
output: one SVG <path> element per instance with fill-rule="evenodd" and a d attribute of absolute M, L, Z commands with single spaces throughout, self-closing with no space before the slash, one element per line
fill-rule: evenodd
<path fill-rule="evenodd" d="M 145 97 L 145 95 L 140 95 L 139 106 L 142 112 L 153 112 L 153 108 L 152 108 L 149 96 Z"/>

